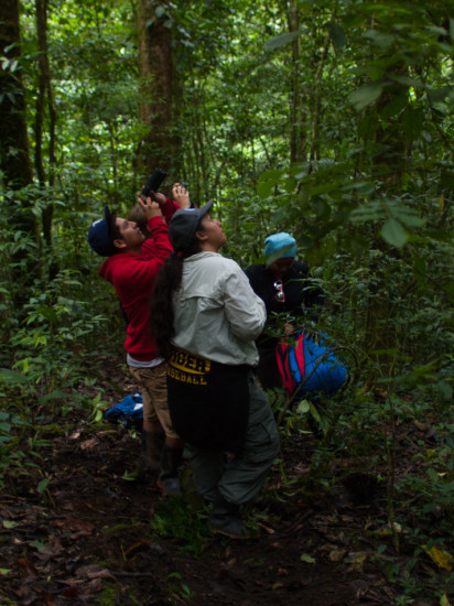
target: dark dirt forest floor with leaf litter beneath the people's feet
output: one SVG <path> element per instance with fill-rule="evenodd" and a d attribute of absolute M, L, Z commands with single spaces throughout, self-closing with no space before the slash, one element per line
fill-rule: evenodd
<path fill-rule="evenodd" d="M 114 374 L 106 364 L 111 403 L 121 400 L 112 381 L 134 391 L 121 369 Z M 312 434 L 284 440 L 282 464 L 245 511 L 256 537 L 233 541 L 207 530 L 188 469 L 185 498 L 163 497 L 151 477 L 127 479 L 139 440 L 119 425 L 95 429 L 82 414 L 62 419 L 62 433 L 46 435 L 41 469 L 7 483 L 0 495 L 1 606 L 396 603 L 401 591 L 377 555 L 379 542 L 391 544 L 386 496 L 358 498 L 340 480 L 303 490 Z"/>

